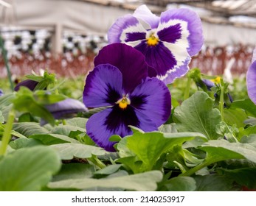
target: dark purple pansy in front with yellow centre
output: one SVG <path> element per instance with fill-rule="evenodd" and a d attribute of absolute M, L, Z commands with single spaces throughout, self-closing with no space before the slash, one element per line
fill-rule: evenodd
<path fill-rule="evenodd" d="M 105 46 L 86 77 L 86 107 L 106 107 L 91 116 L 87 134 L 97 145 L 114 152 L 111 135 L 131 135 L 132 125 L 145 132 L 156 130 L 170 116 L 170 92 L 165 83 L 148 77 L 143 54 L 131 46 Z"/>

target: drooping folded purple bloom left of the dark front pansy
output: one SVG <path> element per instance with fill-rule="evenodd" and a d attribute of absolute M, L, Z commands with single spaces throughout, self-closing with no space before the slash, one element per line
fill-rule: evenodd
<path fill-rule="evenodd" d="M 76 99 L 65 99 L 55 104 L 47 104 L 44 107 L 52 113 L 55 119 L 67 118 L 76 113 L 88 111 L 86 106 Z"/>

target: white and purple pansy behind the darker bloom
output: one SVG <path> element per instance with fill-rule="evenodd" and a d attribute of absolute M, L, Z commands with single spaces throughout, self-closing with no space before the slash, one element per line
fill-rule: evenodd
<path fill-rule="evenodd" d="M 201 20 L 193 10 L 173 9 L 160 17 L 145 5 L 125 15 L 108 30 L 108 43 L 126 43 L 145 55 L 166 84 L 188 71 L 191 56 L 203 45 Z"/>

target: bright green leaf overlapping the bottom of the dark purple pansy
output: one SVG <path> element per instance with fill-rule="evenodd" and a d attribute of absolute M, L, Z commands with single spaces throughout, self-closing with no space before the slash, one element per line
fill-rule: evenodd
<path fill-rule="evenodd" d="M 135 132 L 134 135 L 122 138 L 117 144 L 120 157 L 135 156 L 142 161 L 139 171 L 150 171 L 159 157 L 170 152 L 176 145 L 193 138 L 205 138 L 196 132 L 162 133 L 162 132 Z"/>

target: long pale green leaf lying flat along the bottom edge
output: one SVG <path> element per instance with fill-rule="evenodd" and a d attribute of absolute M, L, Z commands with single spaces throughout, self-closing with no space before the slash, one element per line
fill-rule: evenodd
<path fill-rule="evenodd" d="M 142 174 L 132 174 L 122 177 L 113 177 L 108 179 L 70 179 L 58 182 L 49 182 L 49 188 L 75 188 L 89 189 L 94 187 L 100 188 L 123 188 L 130 191 L 155 191 L 156 182 L 162 180 L 160 171 L 148 171 Z"/>

